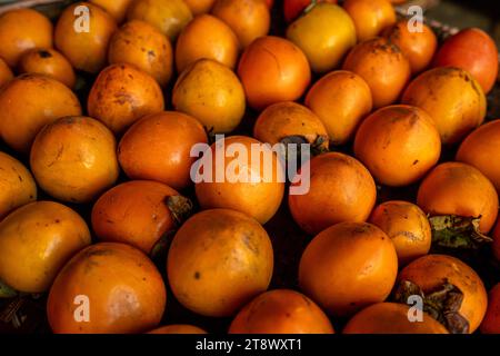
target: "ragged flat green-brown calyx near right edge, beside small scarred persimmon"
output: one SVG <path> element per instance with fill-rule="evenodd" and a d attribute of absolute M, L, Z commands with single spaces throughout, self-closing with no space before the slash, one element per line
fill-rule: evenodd
<path fill-rule="evenodd" d="M 461 217 L 454 215 L 434 216 L 429 218 L 432 229 L 432 244 L 438 247 L 453 249 L 478 249 L 492 238 L 481 234 L 481 218 Z"/>

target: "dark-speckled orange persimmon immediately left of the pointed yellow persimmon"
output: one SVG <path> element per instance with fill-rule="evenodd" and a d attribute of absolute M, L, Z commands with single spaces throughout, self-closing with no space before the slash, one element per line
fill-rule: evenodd
<path fill-rule="evenodd" d="M 146 115 L 164 109 L 163 92 L 148 73 L 131 65 L 112 65 L 96 79 L 87 109 L 117 135 Z"/>

